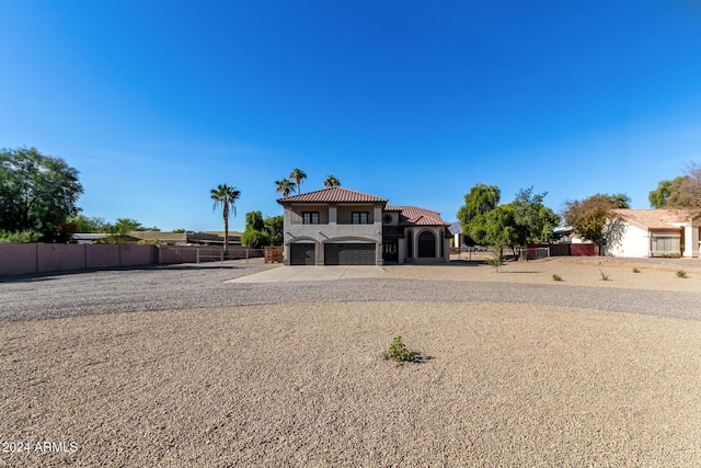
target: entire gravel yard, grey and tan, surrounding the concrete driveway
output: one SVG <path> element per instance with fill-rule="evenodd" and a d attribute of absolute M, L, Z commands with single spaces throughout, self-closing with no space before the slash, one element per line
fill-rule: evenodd
<path fill-rule="evenodd" d="M 269 267 L 0 281 L 0 466 L 701 466 L 696 263 Z"/>

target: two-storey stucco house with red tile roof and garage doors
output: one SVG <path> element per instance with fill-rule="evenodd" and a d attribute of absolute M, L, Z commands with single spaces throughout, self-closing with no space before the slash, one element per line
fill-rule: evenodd
<path fill-rule="evenodd" d="M 447 263 L 448 222 L 440 214 L 343 187 L 279 198 L 286 265 Z"/>

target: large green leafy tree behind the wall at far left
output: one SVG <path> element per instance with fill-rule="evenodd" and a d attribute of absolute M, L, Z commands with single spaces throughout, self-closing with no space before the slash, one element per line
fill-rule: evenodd
<path fill-rule="evenodd" d="M 44 242 L 70 237 L 64 224 L 78 214 L 78 171 L 36 148 L 0 150 L 0 229 L 35 231 Z"/>

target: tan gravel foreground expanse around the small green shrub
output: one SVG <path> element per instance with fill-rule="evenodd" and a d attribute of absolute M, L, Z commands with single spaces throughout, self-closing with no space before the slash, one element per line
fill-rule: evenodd
<path fill-rule="evenodd" d="M 397 334 L 432 359 L 384 361 Z M 0 466 L 697 467 L 699 349 L 701 322 L 499 304 L 8 322 L 2 441 L 78 449 Z"/>

